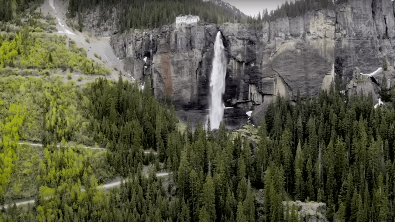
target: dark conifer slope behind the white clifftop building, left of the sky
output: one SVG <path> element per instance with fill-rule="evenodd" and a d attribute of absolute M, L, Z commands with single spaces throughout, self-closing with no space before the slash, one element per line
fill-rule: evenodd
<path fill-rule="evenodd" d="M 96 7 L 99 8 L 102 18 L 98 24 L 93 25 L 100 25 L 111 19 L 115 8 L 117 17 L 114 19 L 121 32 L 130 28 L 156 28 L 173 23 L 177 16 L 186 14 L 199 15 L 201 21 L 208 23 L 233 22 L 239 19 L 233 12 L 203 0 L 70 0 L 68 12 L 71 17 L 81 17 Z M 241 21 L 241 15 L 239 17 Z"/>

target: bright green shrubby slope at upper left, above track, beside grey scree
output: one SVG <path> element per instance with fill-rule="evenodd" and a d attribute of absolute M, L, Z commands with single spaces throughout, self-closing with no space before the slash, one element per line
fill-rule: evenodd
<path fill-rule="evenodd" d="M 86 74 L 109 74 L 110 70 L 90 60 L 83 48 L 66 36 L 46 34 L 41 28 L 24 27 L 20 33 L 0 34 L 0 66 L 29 69 L 61 68 Z"/>

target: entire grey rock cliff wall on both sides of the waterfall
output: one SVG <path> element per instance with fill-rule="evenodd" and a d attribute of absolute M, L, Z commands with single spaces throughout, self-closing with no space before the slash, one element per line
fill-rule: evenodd
<path fill-rule="evenodd" d="M 298 90 L 302 98 L 314 96 L 329 87 L 335 74 L 348 83 L 355 67 L 371 73 L 382 67 L 383 58 L 389 66 L 395 62 L 394 6 L 389 0 L 350 0 L 336 11 L 309 11 L 260 27 L 226 23 L 175 29 L 173 24 L 113 36 L 111 45 L 128 74 L 135 79 L 152 76 L 158 98 L 171 98 L 178 110 L 208 109 L 218 31 L 228 55 L 224 105 L 257 108 L 251 117 L 255 124 L 278 94 L 291 100 Z M 392 72 L 386 75 L 393 78 Z M 360 88 L 355 81 L 348 93 Z M 372 88 L 377 100 L 377 88 Z"/>

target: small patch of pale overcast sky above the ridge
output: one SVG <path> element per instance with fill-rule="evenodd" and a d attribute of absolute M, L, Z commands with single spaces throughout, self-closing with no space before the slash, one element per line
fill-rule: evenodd
<path fill-rule="evenodd" d="M 277 8 L 277 4 L 281 6 L 282 0 L 222 0 L 240 9 L 246 15 L 258 15 L 263 9 L 267 11 Z"/>

